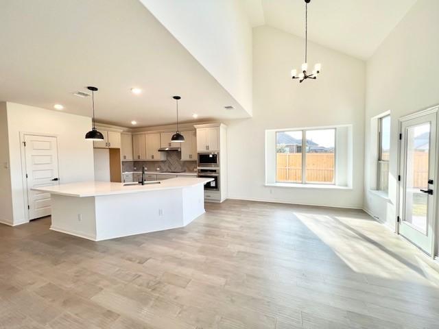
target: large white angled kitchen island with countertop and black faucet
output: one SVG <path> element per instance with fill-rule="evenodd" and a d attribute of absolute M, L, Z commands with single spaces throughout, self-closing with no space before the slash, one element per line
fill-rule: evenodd
<path fill-rule="evenodd" d="M 33 189 L 51 194 L 51 230 L 102 241 L 187 226 L 204 213 L 204 184 L 211 180 L 80 182 Z"/>

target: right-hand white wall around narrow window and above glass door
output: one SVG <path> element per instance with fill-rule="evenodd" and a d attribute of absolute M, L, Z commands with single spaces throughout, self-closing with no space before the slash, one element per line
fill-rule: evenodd
<path fill-rule="evenodd" d="M 398 119 L 439 103 L 439 1 L 418 1 L 367 62 L 364 207 L 395 229 Z M 375 179 L 370 121 L 390 111 L 389 199 L 369 191 Z"/>

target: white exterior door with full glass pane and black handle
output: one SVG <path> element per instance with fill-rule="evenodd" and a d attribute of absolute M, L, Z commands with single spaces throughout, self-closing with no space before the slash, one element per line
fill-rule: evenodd
<path fill-rule="evenodd" d="M 401 122 L 399 233 L 433 253 L 436 112 Z"/>

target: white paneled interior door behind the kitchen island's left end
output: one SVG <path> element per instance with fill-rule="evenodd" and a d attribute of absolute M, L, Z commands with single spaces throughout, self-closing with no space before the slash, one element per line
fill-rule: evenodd
<path fill-rule="evenodd" d="M 51 215 L 50 194 L 32 191 L 59 184 L 56 137 L 24 135 L 29 220 Z"/>

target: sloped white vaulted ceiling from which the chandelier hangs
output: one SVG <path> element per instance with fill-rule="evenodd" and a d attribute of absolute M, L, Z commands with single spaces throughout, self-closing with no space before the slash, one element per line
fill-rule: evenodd
<path fill-rule="evenodd" d="M 304 0 L 242 0 L 253 27 L 305 37 Z M 417 0 L 311 0 L 308 38 L 367 60 Z"/>

